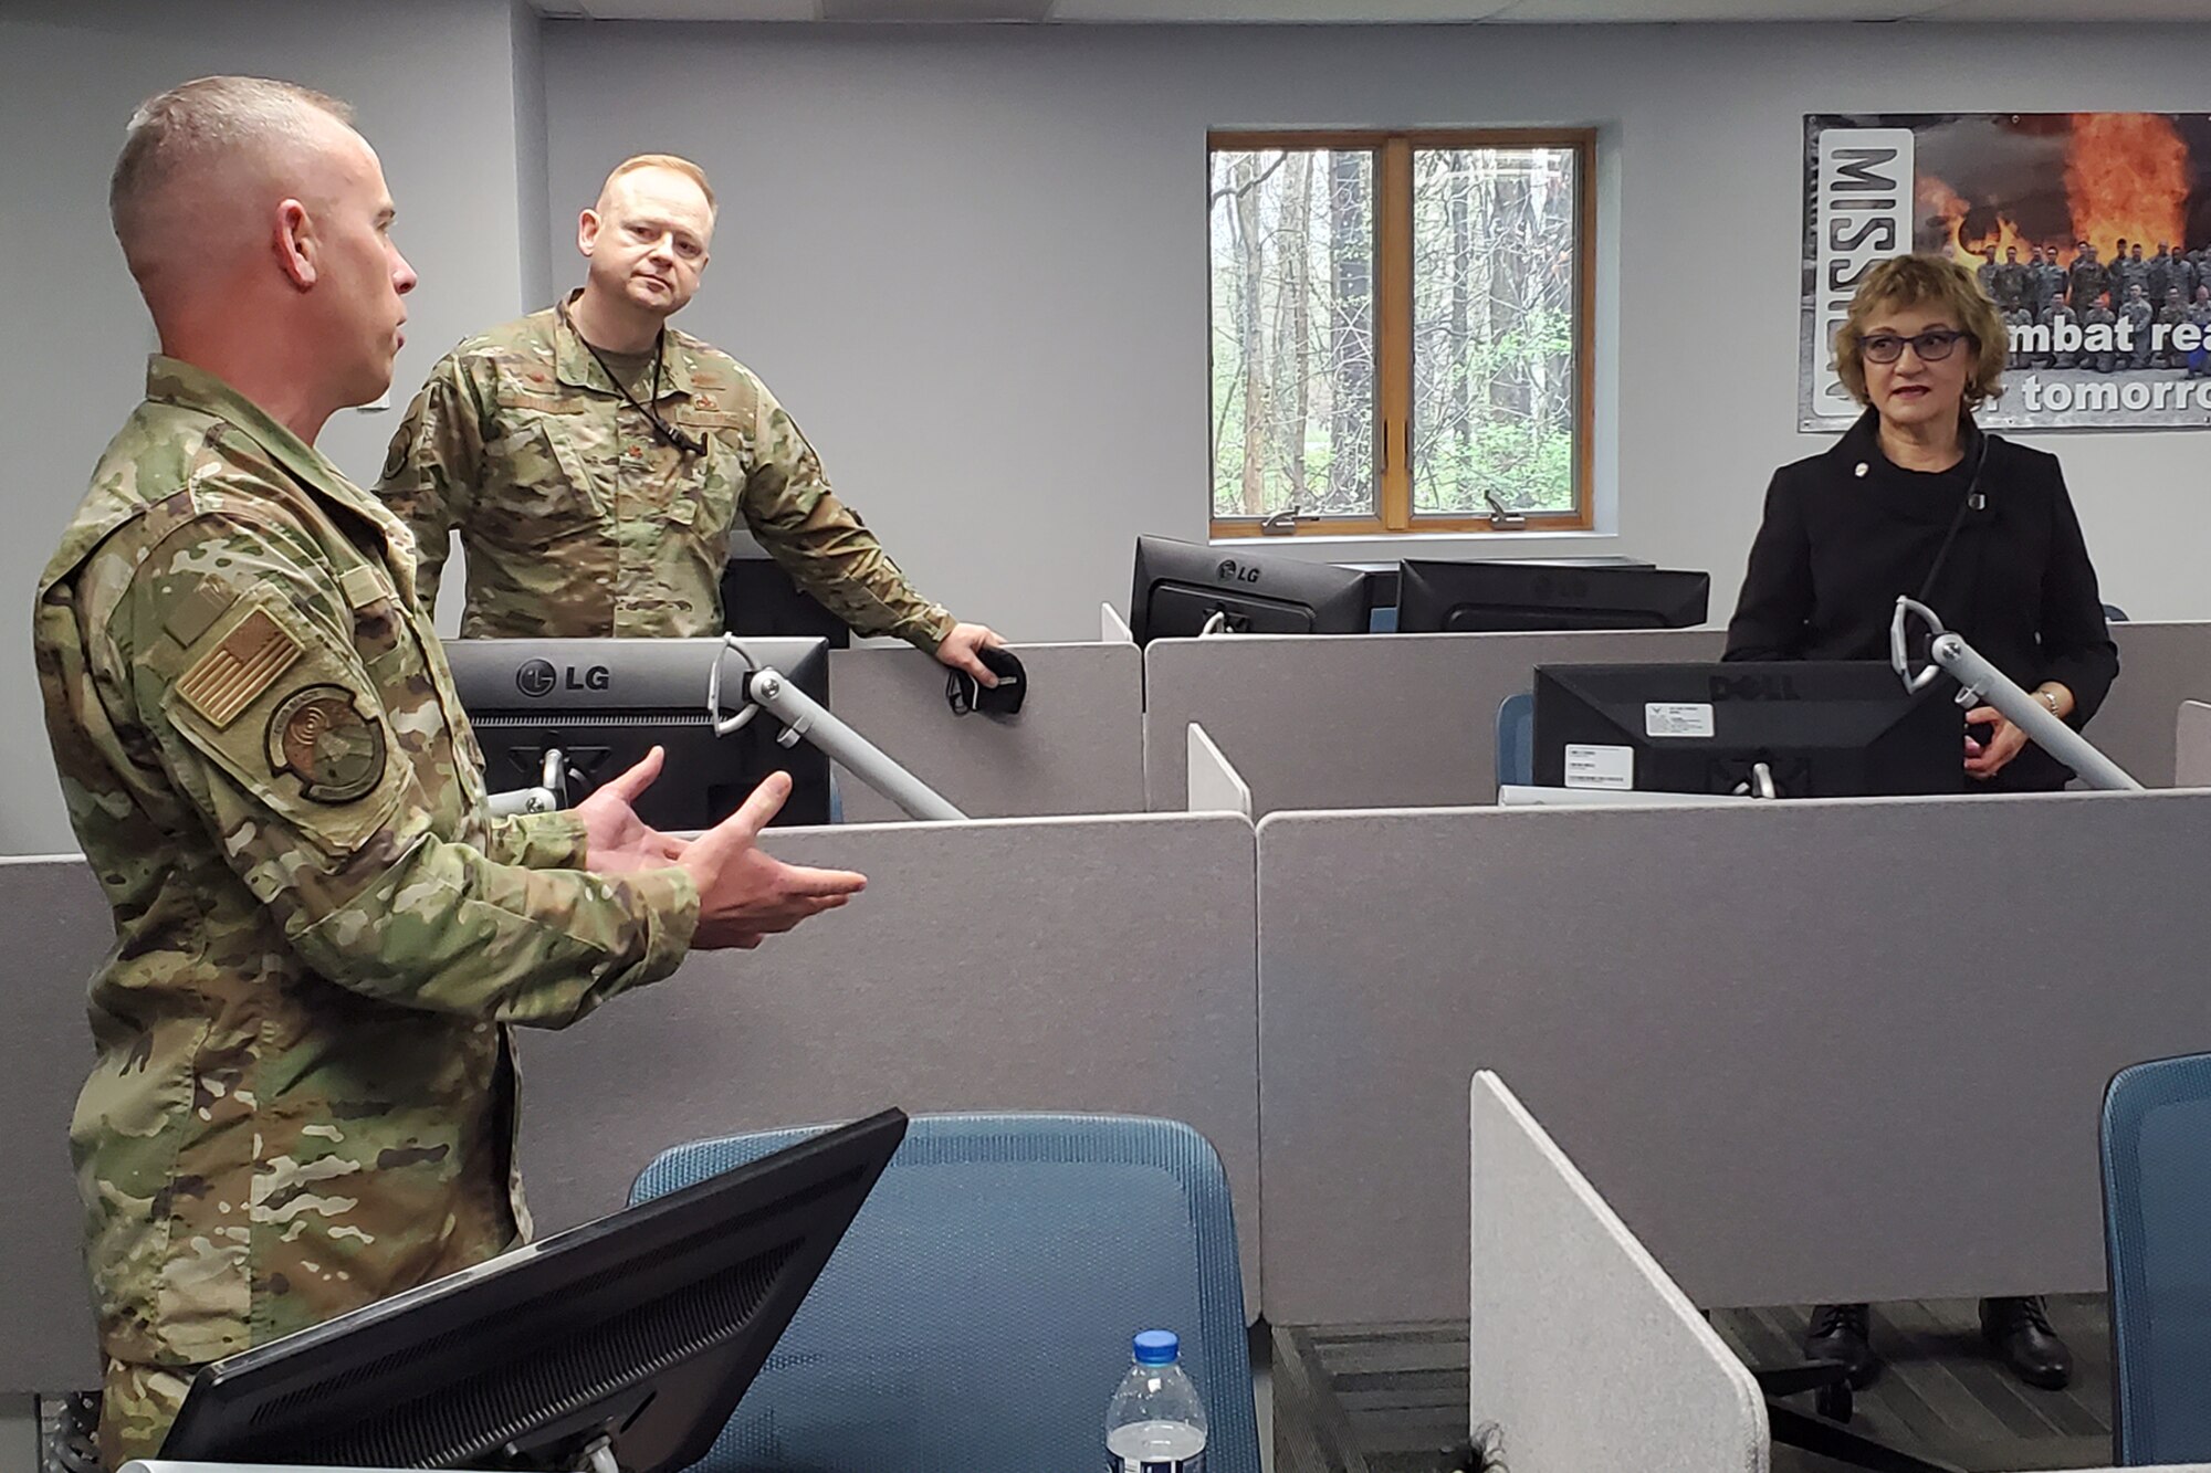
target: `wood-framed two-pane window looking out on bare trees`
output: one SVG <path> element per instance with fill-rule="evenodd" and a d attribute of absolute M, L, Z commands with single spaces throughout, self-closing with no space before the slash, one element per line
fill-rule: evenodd
<path fill-rule="evenodd" d="M 1212 533 L 1590 518 L 1596 133 L 1214 133 Z"/>

